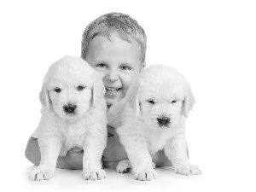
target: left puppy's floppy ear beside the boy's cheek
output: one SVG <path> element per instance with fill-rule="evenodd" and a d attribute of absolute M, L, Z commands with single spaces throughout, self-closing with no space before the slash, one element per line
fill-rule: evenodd
<path fill-rule="evenodd" d="M 104 95 L 105 95 L 105 87 L 102 82 L 102 79 L 95 78 L 93 81 L 93 88 L 92 88 L 92 99 L 93 99 L 93 105 L 96 108 L 101 107 L 104 105 L 103 102 L 105 102 Z"/>

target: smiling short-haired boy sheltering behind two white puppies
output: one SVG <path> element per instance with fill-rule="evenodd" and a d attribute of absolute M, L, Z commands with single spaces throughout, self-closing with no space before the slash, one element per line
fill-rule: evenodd
<path fill-rule="evenodd" d="M 132 80 L 145 66 L 146 44 L 143 27 L 129 15 L 102 15 L 85 28 L 81 57 L 102 76 L 108 108 L 125 96 Z M 40 162 L 35 135 L 27 143 L 26 158 L 35 165 Z M 172 165 L 162 151 L 152 158 L 156 166 Z M 83 150 L 73 148 L 65 157 L 59 157 L 56 167 L 82 169 L 82 159 Z M 108 126 L 108 144 L 103 152 L 103 161 L 118 163 L 125 159 L 128 159 L 125 148 L 119 143 L 113 127 Z"/>

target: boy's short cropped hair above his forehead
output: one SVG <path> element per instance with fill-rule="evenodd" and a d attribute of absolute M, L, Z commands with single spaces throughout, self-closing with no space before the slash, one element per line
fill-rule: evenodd
<path fill-rule="evenodd" d="M 109 38 L 111 32 L 118 32 L 119 37 L 129 43 L 131 43 L 129 38 L 134 38 L 141 46 L 141 63 L 145 64 L 147 36 L 143 27 L 131 16 L 116 12 L 102 15 L 86 26 L 82 38 L 81 57 L 85 60 L 91 39 L 98 35 Z"/>

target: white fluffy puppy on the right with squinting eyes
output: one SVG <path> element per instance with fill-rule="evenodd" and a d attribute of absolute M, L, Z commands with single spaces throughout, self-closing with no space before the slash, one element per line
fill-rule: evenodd
<path fill-rule="evenodd" d="M 201 174 L 189 163 L 185 137 L 185 118 L 194 103 L 188 82 L 177 70 L 155 65 L 144 69 L 125 98 L 108 110 L 108 125 L 117 127 L 136 179 L 156 178 L 150 154 L 161 149 L 176 173 Z M 117 170 L 131 166 L 124 160 Z"/>

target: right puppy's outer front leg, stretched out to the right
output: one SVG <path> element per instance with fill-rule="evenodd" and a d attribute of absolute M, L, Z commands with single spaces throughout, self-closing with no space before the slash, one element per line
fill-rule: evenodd
<path fill-rule="evenodd" d="M 199 175 L 198 166 L 189 163 L 187 156 L 187 142 L 183 134 L 168 140 L 164 148 L 166 156 L 172 161 L 174 171 L 182 175 Z"/>

